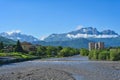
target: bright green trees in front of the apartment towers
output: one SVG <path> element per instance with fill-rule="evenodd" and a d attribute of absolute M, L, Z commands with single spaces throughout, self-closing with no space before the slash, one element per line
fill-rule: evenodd
<path fill-rule="evenodd" d="M 81 55 L 88 56 L 90 60 L 120 60 L 120 48 L 104 49 L 104 50 L 87 50 L 81 49 Z"/>

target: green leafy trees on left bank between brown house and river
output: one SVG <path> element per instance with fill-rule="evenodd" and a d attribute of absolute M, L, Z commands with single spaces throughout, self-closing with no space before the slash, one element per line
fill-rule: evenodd
<path fill-rule="evenodd" d="M 68 57 L 80 54 L 79 49 L 61 46 L 38 46 L 36 52 L 29 52 L 42 57 Z"/>

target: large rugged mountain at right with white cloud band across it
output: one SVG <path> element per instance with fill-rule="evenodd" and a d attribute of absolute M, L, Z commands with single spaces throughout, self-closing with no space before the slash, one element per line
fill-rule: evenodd
<path fill-rule="evenodd" d="M 116 38 L 119 37 L 115 31 L 112 30 L 103 30 L 98 31 L 93 27 L 81 28 L 72 32 L 64 34 L 52 34 L 45 38 L 45 41 L 65 41 L 70 39 L 79 39 L 79 38 Z"/>

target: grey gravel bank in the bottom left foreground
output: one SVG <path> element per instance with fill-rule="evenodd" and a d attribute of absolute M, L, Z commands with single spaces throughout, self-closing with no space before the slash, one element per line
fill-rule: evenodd
<path fill-rule="evenodd" d="M 0 80 L 74 80 L 74 78 L 65 71 L 40 68 L 1 74 Z"/>

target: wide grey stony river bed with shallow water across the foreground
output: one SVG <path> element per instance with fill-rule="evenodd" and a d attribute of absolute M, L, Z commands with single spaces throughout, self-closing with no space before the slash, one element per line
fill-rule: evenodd
<path fill-rule="evenodd" d="M 0 66 L 0 80 L 120 80 L 120 62 L 72 56 Z"/>

